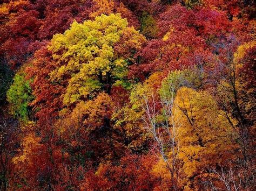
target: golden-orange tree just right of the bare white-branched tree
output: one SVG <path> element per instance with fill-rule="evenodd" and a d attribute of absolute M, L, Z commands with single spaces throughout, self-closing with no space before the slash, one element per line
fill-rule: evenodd
<path fill-rule="evenodd" d="M 180 128 L 178 131 L 179 155 L 185 176 L 185 189 L 195 188 L 199 176 L 207 168 L 224 164 L 232 158 L 236 147 L 235 121 L 226 118 L 224 111 L 206 91 L 195 91 L 182 87 L 175 98 Z"/>

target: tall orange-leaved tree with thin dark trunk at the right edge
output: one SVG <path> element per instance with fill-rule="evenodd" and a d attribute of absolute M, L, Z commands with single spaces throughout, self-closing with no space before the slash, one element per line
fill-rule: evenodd
<path fill-rule="evenodd" d="M 253 82 L 250 81 L 250 73 L 254 73 L 252 64 L 252 49 L 255 47 L 255 42 L 251 41 L 239 46 L 236 39 L 232 39 L 230 44 L 227 44 L 223 52 L 223 63 L 225 67 L 220 82 L 217 87 L 216 100 L 223 110 L 237 119 L 239 127 L 239 145 L 240 159 L 234 161 L 242 166 L 243 175 L 241 176 L 242 187 L 250 185 L 251 172 L 248 166 L 252 162 L 252 147 L 253 132 L 251 116 L 253 115 L 252 107 L 255 105 L 253 97 L 254 88 Z M 250 62 L 250 66 L 246 63 Z M 245 65 L 244 65 L 245 64 Z M 248 84 L 250 85 L 248 86 Z"/>

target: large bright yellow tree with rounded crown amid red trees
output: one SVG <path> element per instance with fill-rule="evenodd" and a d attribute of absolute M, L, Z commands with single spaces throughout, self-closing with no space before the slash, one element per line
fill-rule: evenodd
<path fill-rule="evenodd" d="M 74 22 L 56 34 L 49 49 L 57 66 L 50 76 L 53 83 L 66 84 L 63 103 L 87 100 L 102 89 L 110 93 L 113 84 L 125 83 L 127 67 L 144 40 L 119 14 Z"/>

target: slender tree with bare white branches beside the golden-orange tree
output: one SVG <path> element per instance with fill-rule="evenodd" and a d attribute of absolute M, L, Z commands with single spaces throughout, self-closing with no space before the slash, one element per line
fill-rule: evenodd
<path fill-rule="evenodd" d="M 175 75 L 175 74 L 174 74 Z M 169 83 L 163 83 L 163 89 L 160 91 L 161 110 L 157 111 L 157 100 L 152 93 L 151 97 L 144 98 L 145 127 L 153 135 L 156 142 L 157 153 L 161 160 L 165 162 L 165 168 L 168 169 L 171 179 L 171 188 L 178 190 L 179 165 L 178 153 L 179 143 L 177 133 L 179 131 L 179 121 L 174 121 L 176 117 L 176 108 L 174 108 L 174 97 L 177 91 L 177 76 L 171 75 Z M 150 103 L 151 102 L 151 103 Z M 159 119 L 160 118 L 160 119 Z M 166 154 L 170 152 L 170 154 Z"/>

